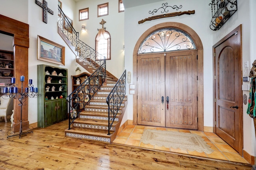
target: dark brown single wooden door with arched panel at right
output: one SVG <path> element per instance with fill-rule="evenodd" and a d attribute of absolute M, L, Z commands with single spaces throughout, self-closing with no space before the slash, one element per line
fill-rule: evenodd
<path fill-rule="evenodd" d="M 240 27 L 214 45 L 215 131 L 242 154 L 242 70 Z"/>

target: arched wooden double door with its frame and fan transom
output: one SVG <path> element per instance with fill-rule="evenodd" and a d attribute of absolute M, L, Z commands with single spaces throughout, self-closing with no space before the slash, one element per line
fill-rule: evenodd
<path fill-rule="evenodd" d="M 168 23 L 173 25 L 172 22 Z M 151 30 L 165 29 L 159 24 Z M 134 124 L 152 125 L 160 127 L 174 127 L 182 129 L 203 130 L 203 79 L 198 75 L 203 75 L 202 68 L 202 44 L 198 35 L 191 28 L 179 23 L 174 30 L 184 32 L 189 30 L 187 37 L 190 41 L 181 43 L 178 48 L 187 49 L 161 52 L 160 47 L 152 49 L 148 47 L 149 41 L 156 41 L 158 35 L 166 43 L 172 33 L 164 32 L 166 38 L 162 38 L 157 32 L 145 40 L 150 35 L 146 33 L 136 44 L 134 49 L 134 76 L 136 76 L 136 96 L 134 97 Z M 161 31 L 160 31 L 161 32 Z M 177 33 L 176 33 L 177 34 Z M 142 44 L 146 45 L 142 45 Z M 159 44 L 159 43 L 157 43 Z M 170 47 L 166 43 L 166 48 Z M 182 46 L 182 47 L 181 47 Z M 188 48 L 189 47 L 189 48 Z M 148 49 L 146 49 L 148 48 Z M 198 49 L 199 48 L 199 49 Z M 159 49 L 159 52 L 157 51 Z M 152 51 L 152 53 L 148 52 Z M 136 53 L 135 53 L 136 51 Z M 139 53 L 138 53 L 139 51 Z M 142 53 L 140 53 L 142 52 Z M 157 53 L 155 53 L 157 52 Z M 199 101 L 198 101 L 199 100 Z"/>

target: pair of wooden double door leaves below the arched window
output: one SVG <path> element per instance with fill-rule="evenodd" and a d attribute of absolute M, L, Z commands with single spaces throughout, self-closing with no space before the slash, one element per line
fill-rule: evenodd
<path fill-rule="evenodd" d="M 198 129 L 196 55 L 196 50 L 138 55 L 138 124 Z"/>

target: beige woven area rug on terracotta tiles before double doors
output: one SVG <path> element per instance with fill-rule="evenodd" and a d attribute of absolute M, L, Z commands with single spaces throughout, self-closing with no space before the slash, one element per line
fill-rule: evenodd
<path fill-rule="evenodd" d="M 190 150 L 197 152 L 212 153 L 210 145 L 201 136 L 193 133 L 182 133 L 172 131 L 161 131 L 146 129 L 144 130 L 140 141 L 144 144 L 157 145 L 158 147 Z"/>

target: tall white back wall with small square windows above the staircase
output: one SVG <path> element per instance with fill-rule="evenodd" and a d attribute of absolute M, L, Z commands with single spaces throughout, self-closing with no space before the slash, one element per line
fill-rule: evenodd
<path fill-rule="evenodd" d="M 97 8 L 99 4 L 108 2 L 108 15 L 98 17 Z M 78 11 L 89 8 L 89 20 L 79 21 Z M 106 61 L 106 69 L 120 78 L 124 72 L 124 12 L 118 12 L 118 0 L 82 0 L 76 3 L 74 28 L 79 32 L 79 39 L 95 49 L 95 37 L 97 29 L 102 28 L 100 24 L 106 21 L 104 27 L 111 36 L 111 60 Z M 81 31 L 82 25 L 86 25 L 86 31 Z"/>

